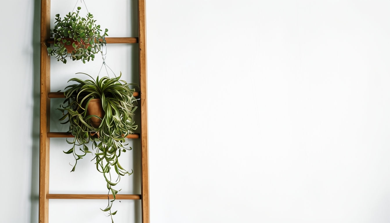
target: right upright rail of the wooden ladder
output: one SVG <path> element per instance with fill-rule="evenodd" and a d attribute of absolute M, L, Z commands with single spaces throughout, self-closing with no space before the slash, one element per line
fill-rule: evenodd
<path fill-rule="evenodd" d="M 146 16 L 145 0 L 138 0 L 138 42 L 140 56 L 141 93 L 141 168 L 142 168 L 142 222 L 150 223 L 149 217 L 149 153 L 147 128 L 147 65 L 146 65 Z"/>

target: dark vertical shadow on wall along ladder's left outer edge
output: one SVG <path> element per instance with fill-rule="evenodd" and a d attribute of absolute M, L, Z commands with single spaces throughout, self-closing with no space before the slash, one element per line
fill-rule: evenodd
<path fill-rule="evenodd" d="M 32 162 L 31 162 L 31 216 L 30 222 L 38 222 L 39 210 L 39 95 L 40 95 L 40 32 L 41 30 L 41 1 L 34 1 L 34 20 L 32 23 L 32 48 L 33 48 L 33 100 L 32 111 Z"/>

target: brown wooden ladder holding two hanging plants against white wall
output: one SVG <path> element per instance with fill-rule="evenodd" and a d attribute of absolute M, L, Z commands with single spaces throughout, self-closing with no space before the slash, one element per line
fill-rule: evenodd
<path fill-rule="evenodd" d="M 138 0 L 138 37 L 106 37 L 107 43 L 138 43 L 139 46 L 139 87 L 141 123 L 140 134 L 128 138 L 141 140 L 141 194 L 117 194 L 117 199 L 141 200 L 142 222 L 149 223 L 149 164 L 147 137 L 147 83 L 146 83 L 146 30 L 145 0 Z M 50 194 L 49 153 L 51 137 L 69 137 L 66 133 L 50 131 L 50 98 L 64 97 L 62 93 L 50 92 L 50 56 L 46 46 L 50 39 L 50 0 L 41 0 L 41 105 L 39 145 L 39 223 L 49 222 L 50 199 L 107 199 L 107 194 Z M 112 195 L 111 199 L 112 199 Z"/>

